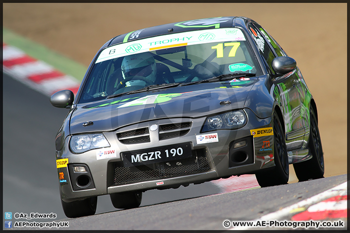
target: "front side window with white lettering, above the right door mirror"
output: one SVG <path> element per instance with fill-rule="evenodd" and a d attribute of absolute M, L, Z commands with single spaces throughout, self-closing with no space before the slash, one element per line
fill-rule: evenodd
<path fill-rule="evenodd" d="M 260 54 L 265 59 L 269 67 L 270 73 L 275 74 L 275 71 L 272 69 L 272 60 L 276 57 L 275 54 L 268 46 L 266 40 L 262 36 L 262 33 L 256 27 L 254 27 L 253 24 L 248 25 L 248 30 L 253 40 L 255 41 Z"/>

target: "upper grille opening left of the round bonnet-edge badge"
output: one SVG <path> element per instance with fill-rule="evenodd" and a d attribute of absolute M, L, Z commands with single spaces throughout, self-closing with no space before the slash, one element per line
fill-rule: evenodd
<path fill-rule="evenodd" d="M 151 141 L 147 127 L 117 133 L 117 137 L 123 144 L 137 144 Z"/>

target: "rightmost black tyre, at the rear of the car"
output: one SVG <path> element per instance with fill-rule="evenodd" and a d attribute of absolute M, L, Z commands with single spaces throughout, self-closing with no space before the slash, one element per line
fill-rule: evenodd
<path fill-rule="evenodd" d="M 320 133 L 315 111 L 310 107 L 309 150 L 313 157 L 309 160 L 293 164 L 299 182 L 324 178 L 324 159 Z"/>

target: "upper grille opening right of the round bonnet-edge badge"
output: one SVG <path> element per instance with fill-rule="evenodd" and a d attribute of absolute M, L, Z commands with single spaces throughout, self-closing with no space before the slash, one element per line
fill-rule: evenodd
<path fill-rule="evenodd" d="M 159 125 L 159 140 L 180 137 L 190 132 L 192 122 Z"/>

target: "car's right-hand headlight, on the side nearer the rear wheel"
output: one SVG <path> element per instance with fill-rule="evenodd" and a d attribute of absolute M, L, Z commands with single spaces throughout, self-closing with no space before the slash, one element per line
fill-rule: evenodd
<path fill-rule="evenodd" d="M 204 123 L 202 132 L 220 129 L 239 129 L 245 126 L 246 121 L 247 118 L 243 110 L 223 113 L 216 116 L 209 116 Z"/>

